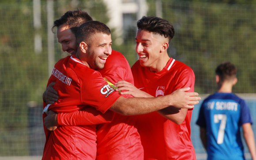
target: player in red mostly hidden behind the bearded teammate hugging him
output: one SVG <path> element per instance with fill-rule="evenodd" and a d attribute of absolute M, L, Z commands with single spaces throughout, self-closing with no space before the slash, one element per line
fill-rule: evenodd
<path fill-rule="evenodd" d="M 57 38 L 62 45 L 63 51 L 68 51 L 71 55 L 76 52 L 77 47 L 75 44 L 75 28 L 89 20 L 92 20 L 92 18 L 87 14 L 87 12 L 77 10 L 67 11 L 63 16 L 54 21 L 52 29 L 55 27 L 57 28 Z M 102 74 L 102 76 L 104 76 L 105 79 L 111 81 L 112 83 L 118 80 L 127 80 L 133 83 L 131 68 L 126 58 L 124 58 L 120 52 L 112 50 L 112 54 L 108 57 L 108 60 L 104 65 L 104 69 L 98 69 L 98 71 Z M 47 101 L 48 104 L 52 104 L 58 99 L 57 92 L 52 86 L 53 84 L 49 84 L 49 87 L 47 87 L 47 90 L 43 96 L 44 101 Z M 129 96 L 126 95 L 126 97 Z M 64 113 L 59 112 L 57 116 L 58 123 L 63 126 L 67 125 L 68 123 L 82 123 L 83 125 L 98 124 L 104 123 L 104 121 L 109 122 L 111 119 L 109 115 L 111 115 L 111 113 L 113 114 L 111 111 L 104 113 L 104 115 L 102 115 L 102 113 L 95 114 L 94 110 L 95 109 L 92 107 L 89 107 L 80 112 L 73 112 L 70 114 L 72 117 L 83 116 L 85 119 L 71 119 L 70 117 L 65 116 Z M 143 148 L 140 142 L 139 134 L 136 127 L 134 127 L 135 120 L 136 119 L 132 118 L 131 116 L 115 114 L 115 116 L 113 116 L 113 123 L 97 126 L 97 159 L 100 159 L 100 157 L 102 157 L 102 159 L 107 157 L 112 159 L 114 157 L 125 157 L 129 159 L 143 158 Z M 47 124 L 47 122 L 50 124 Z M 45 120 L 44 123 L 47 126 L 52 125 L 53 122 Z M 51 128 L 51 130 L 54 129 Z M 106 152 L 106 150 L 108 152 Z M 90 153 L 94 153 L 91 150 L 88 151 Z"/>

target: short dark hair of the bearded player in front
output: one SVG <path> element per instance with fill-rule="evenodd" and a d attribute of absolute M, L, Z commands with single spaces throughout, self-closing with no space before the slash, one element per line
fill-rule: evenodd
<path fill-rule="evenodd" d="M 107 25 L 98 21 L 88 21 L 80 25 L 75 34 L 76 43 L 80 44 L 82 41 L 90 43 L 90 38 L 94 34 L 104 33 L 110 35 L 110 29 Z"/>

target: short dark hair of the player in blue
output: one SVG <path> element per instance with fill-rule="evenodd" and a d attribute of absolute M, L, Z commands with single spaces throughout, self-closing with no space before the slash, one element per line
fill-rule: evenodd
<path fill-rule="evenodd" d="M 219 76 L 220 82 L 224 80 L 231 80 L 237 76 L 237 68 L 230 62 L 224 62 L 215 70 L 216 75 Z"/>

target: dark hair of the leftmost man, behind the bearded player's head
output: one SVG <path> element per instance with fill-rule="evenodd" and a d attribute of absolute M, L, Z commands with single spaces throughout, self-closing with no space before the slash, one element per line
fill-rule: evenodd
<path fill-rule="evenodd" d="M 67 11 L 64 15 L 62 15 L 59 19 L 56 19 L 53 22 L 52 32 L 55 27 L 59 27 L 60 25 L 67 25 L 70 27 L 72 32 L 75 34 L 77 27 L 82 25 L 87 21 L 92 21 L 93 19 L 88 15 L 86 11 L 75 10 L 75 11 Z M 53 32 L 54 33 L 54 32 Z"/>

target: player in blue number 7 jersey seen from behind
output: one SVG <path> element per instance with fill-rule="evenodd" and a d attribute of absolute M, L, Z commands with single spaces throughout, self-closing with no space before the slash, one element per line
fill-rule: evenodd
<path fill-rule="evenodd" d="M 218 91 L 203 101 L 196 121 L 207 160 L 245 160 L 241 127 L 252 160 L 256 160 L 250 111 L 245 100 L 232 93 L 237 69 L 225 62 L 218 65 L 215 73 Z"/>

